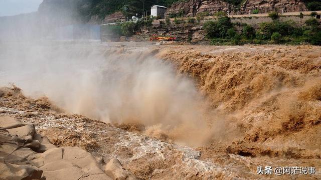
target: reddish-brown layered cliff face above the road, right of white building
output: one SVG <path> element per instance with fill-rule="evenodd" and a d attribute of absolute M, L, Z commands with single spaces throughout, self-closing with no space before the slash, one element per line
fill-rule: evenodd
<path fill-rule="evenodd" d="M 223 11 L 229 11 L 231 15 L 238 14 L 248 14 L 249 11 L 258 9 L 259 13 L 268 13 L 271 11 L 282 12 L 299 12 L 307 11 L 303 1 L 301 0 L 247 0 L 240 7 L 233 6 L 222 0 L 190 0 L 187 2 L 178 2 L 173 4 L 171 8 L 168 9 L 167 15 L 175 15 L 183 13 L 185 16 L 196 16 L 202 12 L 213 13 Z"/>

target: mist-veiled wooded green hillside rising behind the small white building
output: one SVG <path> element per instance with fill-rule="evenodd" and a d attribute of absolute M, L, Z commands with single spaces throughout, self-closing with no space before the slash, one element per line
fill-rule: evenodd
<path fill-rule="evenodd" d="M 66 17 L 73 21 L 87 23 L 101 23 L 107 16 L 116 12 L 123 16 L 131 17 L 143 11 L 150 11 L 152 5 L 171 6 L 178 0 L 44 0 L 39 7 L 39 12 L 57 20 L 64 20 Z M 122 16 L 121 16 L 122 17 Z"/>

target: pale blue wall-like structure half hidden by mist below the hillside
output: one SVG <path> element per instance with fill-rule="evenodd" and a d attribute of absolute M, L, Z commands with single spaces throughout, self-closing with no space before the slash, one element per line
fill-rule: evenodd
<path fill-rule="evenodd" d="M 100 40 L 100 26 L 84 24 L 58 27 L 54 31 L 53 38 L 58 40 Z"/>

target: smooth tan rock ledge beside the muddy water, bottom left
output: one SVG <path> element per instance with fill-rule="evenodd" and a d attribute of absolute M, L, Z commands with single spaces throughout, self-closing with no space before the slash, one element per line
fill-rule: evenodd
<path fill-rule="evenodd" d="M 56 147 L 33 124 L 0 117 L 0 179 L 140 179 L 118 159 L 107 163 L 79 147 Z"/>

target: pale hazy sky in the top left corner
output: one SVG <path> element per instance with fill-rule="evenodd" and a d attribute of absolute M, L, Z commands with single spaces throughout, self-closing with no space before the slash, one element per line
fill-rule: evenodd
<path fill-rule="evenodd" d="M 0 17 L 31 13 L 38 10 L 43 0 L 0 0 Z"/>

